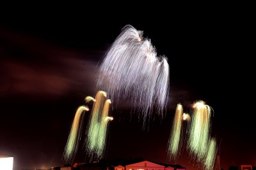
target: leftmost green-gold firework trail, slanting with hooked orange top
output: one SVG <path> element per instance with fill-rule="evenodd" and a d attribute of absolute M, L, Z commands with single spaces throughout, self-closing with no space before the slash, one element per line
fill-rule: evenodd
<path fill-rule="evenodd" d="M 68 135 L 68 140 L 67 144 L 65 146 L 65 151 L 63 154 L 63 158 L 65 162 L 70 162 L 74 159 L 74 156 L 76 155 L 77 148 L 78 148 L 78 140 L 79 137 L 81 136 L 81 124 L 82 124 L 82 119 L 83 119 L 83 112 L 84 111 L 89 111 L 89 108 L 87 106 L 80 106 L 78 107 L 72 127 L 70 130 L 70 134 Z"/>

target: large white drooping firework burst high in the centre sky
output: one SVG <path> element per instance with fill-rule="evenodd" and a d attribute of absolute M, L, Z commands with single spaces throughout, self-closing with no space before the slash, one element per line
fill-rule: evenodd
<path fill-rule="evenodd" d="M 143 31 L 129 25 L 122 29 L 100 65 L 97 88 L 107 91 L 116 104 L 120 100 L 133 101 L 145 122 L 154 105 L 163 118 L 169 93 L 169 65 L 165 57 L 157 57 L 150 40 L 142 35 Z"/>

